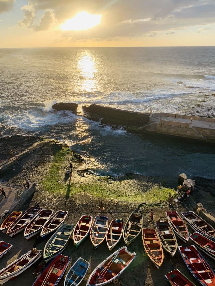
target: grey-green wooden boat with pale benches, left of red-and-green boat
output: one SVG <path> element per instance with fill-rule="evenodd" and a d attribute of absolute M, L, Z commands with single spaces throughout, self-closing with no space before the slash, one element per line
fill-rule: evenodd
<path fill-rule="evenodd" d="M 63 223 L 48 240 L 43 252 L 43 258 L 46 262 L 53 259 L 58 253 L 64 251 L 72 236 L 74 226 L 75 225 L 67 225 Z"/>

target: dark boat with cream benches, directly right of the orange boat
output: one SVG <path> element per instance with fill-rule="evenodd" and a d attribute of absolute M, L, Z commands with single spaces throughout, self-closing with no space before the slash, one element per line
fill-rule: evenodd
<path fill-rule="evenodd" d="M 156 227 L 164 249 L 173 257 L 177 251 L 178 243 L 175 233 L 168 221 L 157 221 Z"/>

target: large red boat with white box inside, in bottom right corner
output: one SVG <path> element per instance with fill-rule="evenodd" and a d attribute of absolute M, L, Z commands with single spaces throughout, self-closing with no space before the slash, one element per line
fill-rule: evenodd
<path fill-rule="evenodd" d="M 204 286 L 215 285 L 215 274 L 194 245 L 179 246 L 179 252 L 191 274 Z"/>

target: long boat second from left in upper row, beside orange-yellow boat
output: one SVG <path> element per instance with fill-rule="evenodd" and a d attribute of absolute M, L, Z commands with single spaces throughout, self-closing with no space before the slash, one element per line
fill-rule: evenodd
<path fill-rule="evenodd" d="M 40 208 L 35 208 L 34 206 L 28 208 L 8 228 L 7 234 L 13 237 L 14 235 L 22 231 L 30 223 L 30 221 L 38 214 L 39 211 Z"/>

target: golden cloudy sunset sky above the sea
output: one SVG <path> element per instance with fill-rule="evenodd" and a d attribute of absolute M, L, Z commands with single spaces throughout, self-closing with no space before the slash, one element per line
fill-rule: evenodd
<path fill-rule="evenodd" d="M 0 48 L 122 46 L 215 46 L 215 0 L 0 0 Z"/>

